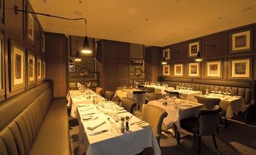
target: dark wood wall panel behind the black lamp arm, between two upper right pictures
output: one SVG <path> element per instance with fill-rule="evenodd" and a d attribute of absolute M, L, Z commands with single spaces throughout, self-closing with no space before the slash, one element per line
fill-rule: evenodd
<path fill-rule="evenodd" d="M 205 57 L 224 56 L 227 54 L 227 32 L 205 36 L 202 45 Z"/>

